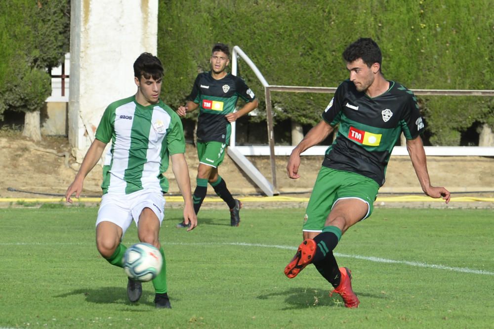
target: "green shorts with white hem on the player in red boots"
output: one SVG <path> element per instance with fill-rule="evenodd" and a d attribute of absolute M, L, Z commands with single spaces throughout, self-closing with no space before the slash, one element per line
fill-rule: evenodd
<path fill-rule="evenodd" d="M 341 199 L 359 199 L 369 206 L 365 219 L 374 209 L 379 185 L 360 174 L 321 167 L 305 210 L 302 231 L 321 232 L 334 204 Z"/>

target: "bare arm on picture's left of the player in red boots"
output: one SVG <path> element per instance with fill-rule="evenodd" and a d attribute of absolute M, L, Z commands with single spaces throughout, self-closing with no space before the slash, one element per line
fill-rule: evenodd
<path fill-rule="evenodd" d="M 290 178 L 299 178 L 298 167 L 300 166 L 300 154 L 308 148 L 321 143 L 333 131 L 329 123 L 321 120 L 304 136 L 304 139 L 291 151 L 290 159 L 288 160 L 287 173 Z"/>

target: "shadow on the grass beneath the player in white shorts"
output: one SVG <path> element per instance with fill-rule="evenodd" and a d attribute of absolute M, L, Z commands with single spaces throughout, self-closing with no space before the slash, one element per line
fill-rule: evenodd
<path fill-rule="evenodd" d="M 65 298 L 73 295 L 82 295 L 89 303 L 95 304 L 122 304 L 122 305 L 149 305 L 155 307 L 153 302 L 154 292 L 142 291 L 142 296 L 138 302 L 132 303 L 127 299 L 127 290 L 122 287 L 101 287 L 101 288 L 81 288 L 70 292 L 56 295 L 57 298 Z M 133 311 L 143 312 L 145 309 L 135 309 Z"/>

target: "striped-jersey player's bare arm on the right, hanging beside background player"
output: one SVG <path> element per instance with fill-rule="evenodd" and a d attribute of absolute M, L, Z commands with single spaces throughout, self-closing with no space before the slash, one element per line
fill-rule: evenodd
<path fill-rule="evenodd" d="M 184 198 L 184 222 L 190 223 L 187 231 L 194 229 L 197 226 L 197 216 L 194 211 L 194 205 L 192 203 L 192 190 L 190 187 L 189 167 L 185 161 L 185 155 L 183 153 L 172 154 L 171 156 L 171 169 L 177 180 L 178 188 Z"/>

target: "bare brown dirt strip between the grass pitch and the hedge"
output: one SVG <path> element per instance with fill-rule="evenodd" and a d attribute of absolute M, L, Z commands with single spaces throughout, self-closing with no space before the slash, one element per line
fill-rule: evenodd
<path fill-rule="evenodd" d="M 189 165 L 192 188 L 195 187 L 198 160 L 196 149 L 187 145 L 186 159 Z M 249 157 L 257 169 L 271 181 L 269 157 Z M 287 177 L 288 157 L 277 157 L 277 185 L 281 195 L 308 197 L 321 166 L 322 157 L 302 157 L 300 179 Z M 494 197 L 494 158 L 490 157 L 429 157 L 429 174 L 433 185 L 442 185 L 454 196 L 472 195 Z M 0 136 L 0 198 L 56 197 L 65 193 L 74 179 L 79 164 L 70 155 L 65 137 L 44 137 L 34 143 L 19 133 Z M 232 194 L 237 196 L 263 195 L 262 191 L 241 172 L 227 156 L 219 168 Z M 170 195 L 179 195 L 178 186 L 171 172 Z M 421 193 L 420 185 L 408 157 L 393 157 L 388 165 L 384 194 Z M 101 195 L 101 166 L 96 165 L 84 181 L 83 196 Z M 209 189 L 209 193 L 213 193 Z M 435 203 L 437 204 L 437 203 Z M 274 206 L 274 204 L 271 204 Z M 259 205 L 262 206 L 262 205 Z"/>

